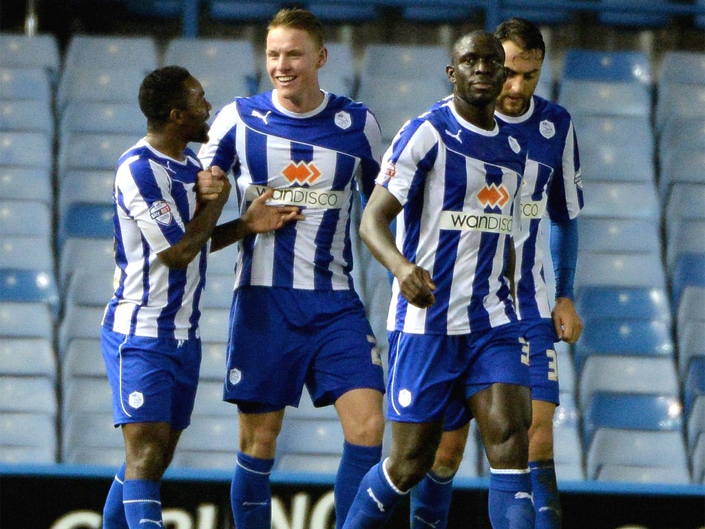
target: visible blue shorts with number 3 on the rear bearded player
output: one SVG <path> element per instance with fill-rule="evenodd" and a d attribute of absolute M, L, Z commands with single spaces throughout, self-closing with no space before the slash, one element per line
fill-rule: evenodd
<path fill-rule="evenodd" d="M 556 329 L 550 318 L 525 320 L 524 333 L 529 341 L 531 398 L 534 401 L 560 403 L 558 394 L 558 359 Z"/>

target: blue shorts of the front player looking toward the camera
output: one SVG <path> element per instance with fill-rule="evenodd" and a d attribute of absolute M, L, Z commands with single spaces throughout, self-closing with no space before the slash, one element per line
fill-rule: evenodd
<path fill-rule="evenodd" d="M 450 402 L 467 401 L 491 384 L 529 386 L 528 349 L 521 336 L 519 322 L 452 336 L 389 333 L 387 418 L 431 422 L 446 414 Z M 465 412 L 465 422 L 446 419 L 457 425 L 453 430 L 470 420 Z"/>

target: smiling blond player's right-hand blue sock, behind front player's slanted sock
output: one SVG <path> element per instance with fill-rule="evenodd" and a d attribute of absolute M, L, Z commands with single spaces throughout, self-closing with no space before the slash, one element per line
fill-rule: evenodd
<path fill-rule="evenodd" d="M 343 527 L 345 517 L 348 516 L 350 505 L 353 504 L 357 489 L 367 471 L 379 463 L 382 457 L 382 445 L 361 446 L 343 443 L 343 457 L 336 474 L 336 529 Z"/>

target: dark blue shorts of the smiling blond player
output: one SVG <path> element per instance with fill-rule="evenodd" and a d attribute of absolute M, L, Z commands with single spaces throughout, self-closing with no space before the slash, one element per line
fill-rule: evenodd
<path fill-rule="evenodd" d="M 244 413 L 384 393 L 379 348 L 355 291 L 245 286 L 233 295 L 223 400 Z"/>

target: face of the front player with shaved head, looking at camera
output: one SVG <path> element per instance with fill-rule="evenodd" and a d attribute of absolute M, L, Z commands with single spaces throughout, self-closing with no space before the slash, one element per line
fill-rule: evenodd
<path fill-rule="evenodd" d="M 470 35 L 454 50 L 448 77 L 455 85 L 455 97 L 467 104 L 494 101 L 505 79 L 504 51 L 492 35 Z"/>

